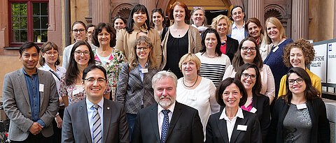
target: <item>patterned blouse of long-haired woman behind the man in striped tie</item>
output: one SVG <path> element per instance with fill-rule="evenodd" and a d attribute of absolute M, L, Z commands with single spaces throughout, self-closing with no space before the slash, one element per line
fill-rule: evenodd
<path fill-rule="evenodd" d="M 73 83 L 69 86 L 65 83 L 65 75 L 61 78 L 61 83 L 59 84 L 59 96 L 68 96 L 69 105 L 73 105 L 74 103 L 78 103 L 80 100 L 86 98 L 85 89 L 76 90 L 76 84 Z M 108 83 L 104 94 L 111 92 L 111 84 Z"/>

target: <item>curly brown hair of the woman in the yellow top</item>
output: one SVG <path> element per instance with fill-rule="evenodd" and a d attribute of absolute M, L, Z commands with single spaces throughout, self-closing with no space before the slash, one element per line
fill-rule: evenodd
<path fill-rule="evenodd" d="M 292 50 L 293 47 L 297 47 L 302 50 L 302 54 L 304 56 L 304 66 L 310 65 L 311 61 L 314 61 L 314 46 L 307 40 L 299 39 L 283 48 L 283 63 L 285 63 L 287 67 L 292 67 L 292 64 L 290 63 L 290 50 Z"/>

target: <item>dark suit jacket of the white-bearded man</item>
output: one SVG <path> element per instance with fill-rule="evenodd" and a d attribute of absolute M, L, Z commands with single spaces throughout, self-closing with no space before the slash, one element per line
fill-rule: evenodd
<path fill-rule="evenodd" d="M 204 134 L 200 116 L 193 107 L 175 102 L 165 142 L 203 142 Z M 135 122 L 132 142 L 160 143 L 158 128 L 158 104 L 139 111 Z"/>

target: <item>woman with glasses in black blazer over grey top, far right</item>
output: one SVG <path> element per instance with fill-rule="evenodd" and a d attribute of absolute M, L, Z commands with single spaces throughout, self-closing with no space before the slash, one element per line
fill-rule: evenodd
<path fill-rule="evenodd" d="M 303 68 L 291 68 L 286 95 L 276 100 L 267 142 L 330 142 L 330 125 L 320 91 Z"/>

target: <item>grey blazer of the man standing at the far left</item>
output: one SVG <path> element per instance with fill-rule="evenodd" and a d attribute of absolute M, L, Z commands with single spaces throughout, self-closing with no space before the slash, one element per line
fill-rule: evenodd
<path fill-rule="evenodd" d="M 38 118 L 45 123 L 41 133 L 44 137 L 50 137 L 52 130 L 52 119 L 54 119 L 59 108 L 57 87 L 51 73 L 36 69 L 38 83 L 43 84 L 43 92 L 40 91 L 40 111 Z M 9 140 L 26 140 L 29 135 L 29 128 L 34 123 L 31 120 L 31 108 L 29 93 L 23 69 L 13 71 L 5 75 L 3 80 L 3 108 L 10 119 Z"/>

